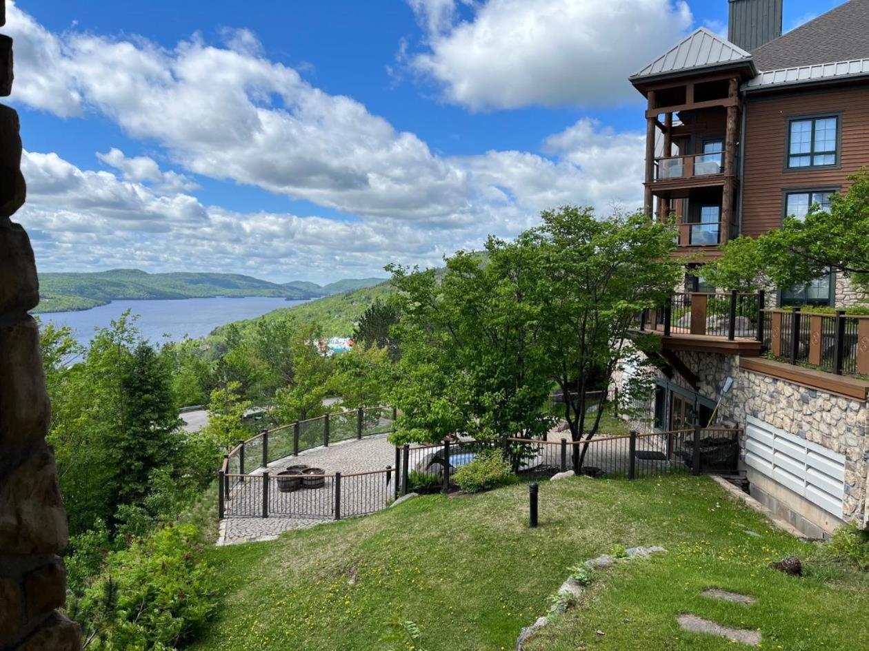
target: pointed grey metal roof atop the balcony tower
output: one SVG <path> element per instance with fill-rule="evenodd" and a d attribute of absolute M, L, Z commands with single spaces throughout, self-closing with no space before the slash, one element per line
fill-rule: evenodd
<path fill-rule="evenodd" d="M 751 63 L 752 56 L 725 38 L 700 27 L 630 78 L 634 81 L 735 62 Z"/>

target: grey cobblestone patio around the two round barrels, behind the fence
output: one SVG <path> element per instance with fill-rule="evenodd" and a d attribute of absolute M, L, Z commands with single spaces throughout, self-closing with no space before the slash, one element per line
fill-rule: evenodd
<path fill-rule="evenodd" d="M 395 447 L 381 434 L 331 444 L 300 452 L 298 457 L 284 457 L 269 464 L 269 474 L 274 474 L 290 464 L 307 464 L 322 468 L 327 475 L 341 472 L 350 475 L 369 470 L 384 470 L 395 465 Z M 262 475 L 264 469 L 252 470 L 251 475 Z M 388 485 L 386 474 L 346 477 L 342 480 L 342 516 L 362 515 L 379 510 L 388 504 L 388 497 L 395 490 L 395 473 Z M 235 485 L 230 491 L 226 517 L 220 523 L 217 544 L 272 540 L 283 531 L 308 529 L 316 524 L 330 522 L 334 513 L 334 485 L 327 478 L 321 489 L 299 490 L 295 493 L 280 493 L 275 482 L 269 482 L 269 517 L 262 513 L 262 480 L 249 479 Z M 290 515 L 293 511 L 298 516 Z M 235 512 L 235 515 L 233 515 Z M 305 517 L 302 513 L 316 513 L 318 517 Z M 245 514 L 245 515 L 240 515 Z"/>

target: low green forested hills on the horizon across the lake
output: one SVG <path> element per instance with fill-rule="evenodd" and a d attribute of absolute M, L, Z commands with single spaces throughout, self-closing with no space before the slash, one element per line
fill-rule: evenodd
<path fill-rule="evenodd" d="M 123 299 L 197 299 L 212 296 L 314 299 L 344 291 L 341 287 L 345 283 L 355 287 L 371 286 L 382 281 L 347 279 L 322 287 L 304 281 L 278 284 L 238 273 L 146 273 L 138 269 L 41 273 L 40 303 L 34 312 L 88 310 L 112 300 Z"/>

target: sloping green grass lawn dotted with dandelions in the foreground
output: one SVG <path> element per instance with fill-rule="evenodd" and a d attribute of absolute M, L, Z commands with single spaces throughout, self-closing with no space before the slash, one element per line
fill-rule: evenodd
<path fill-rule="evenodd" d="M 869 648 L 860 623 L 869 577 L 811 560 L 802 579 L 767 568 L 782 556 L 817 558 L 817 549 L 770 529 L 706 477 L 541 483 L 538 529 L 527 528 L 527 486 L 518 484 L 215 548 L 222 604 L 196 648 L 410 648 L 381 641 L 390 622 L 409 620 L 421 628 L 418 651 L 512 649 L 569 567 L 639 544 L 670 551 L 595 573 L 580 608 L 529 648 L 740 648 L 682 634 L 682 612 L 760 628 L 762 648 Z M 699 595 L 707 587 L 760 601 L 712 602 Z"/>

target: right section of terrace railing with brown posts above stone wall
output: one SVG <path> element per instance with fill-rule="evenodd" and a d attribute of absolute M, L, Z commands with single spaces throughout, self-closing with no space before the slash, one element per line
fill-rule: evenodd
<path fill-rule="evenodd" d="M 869 375 L 869 316 L 764 310 L 764 348 L 794 365 Z"/>

